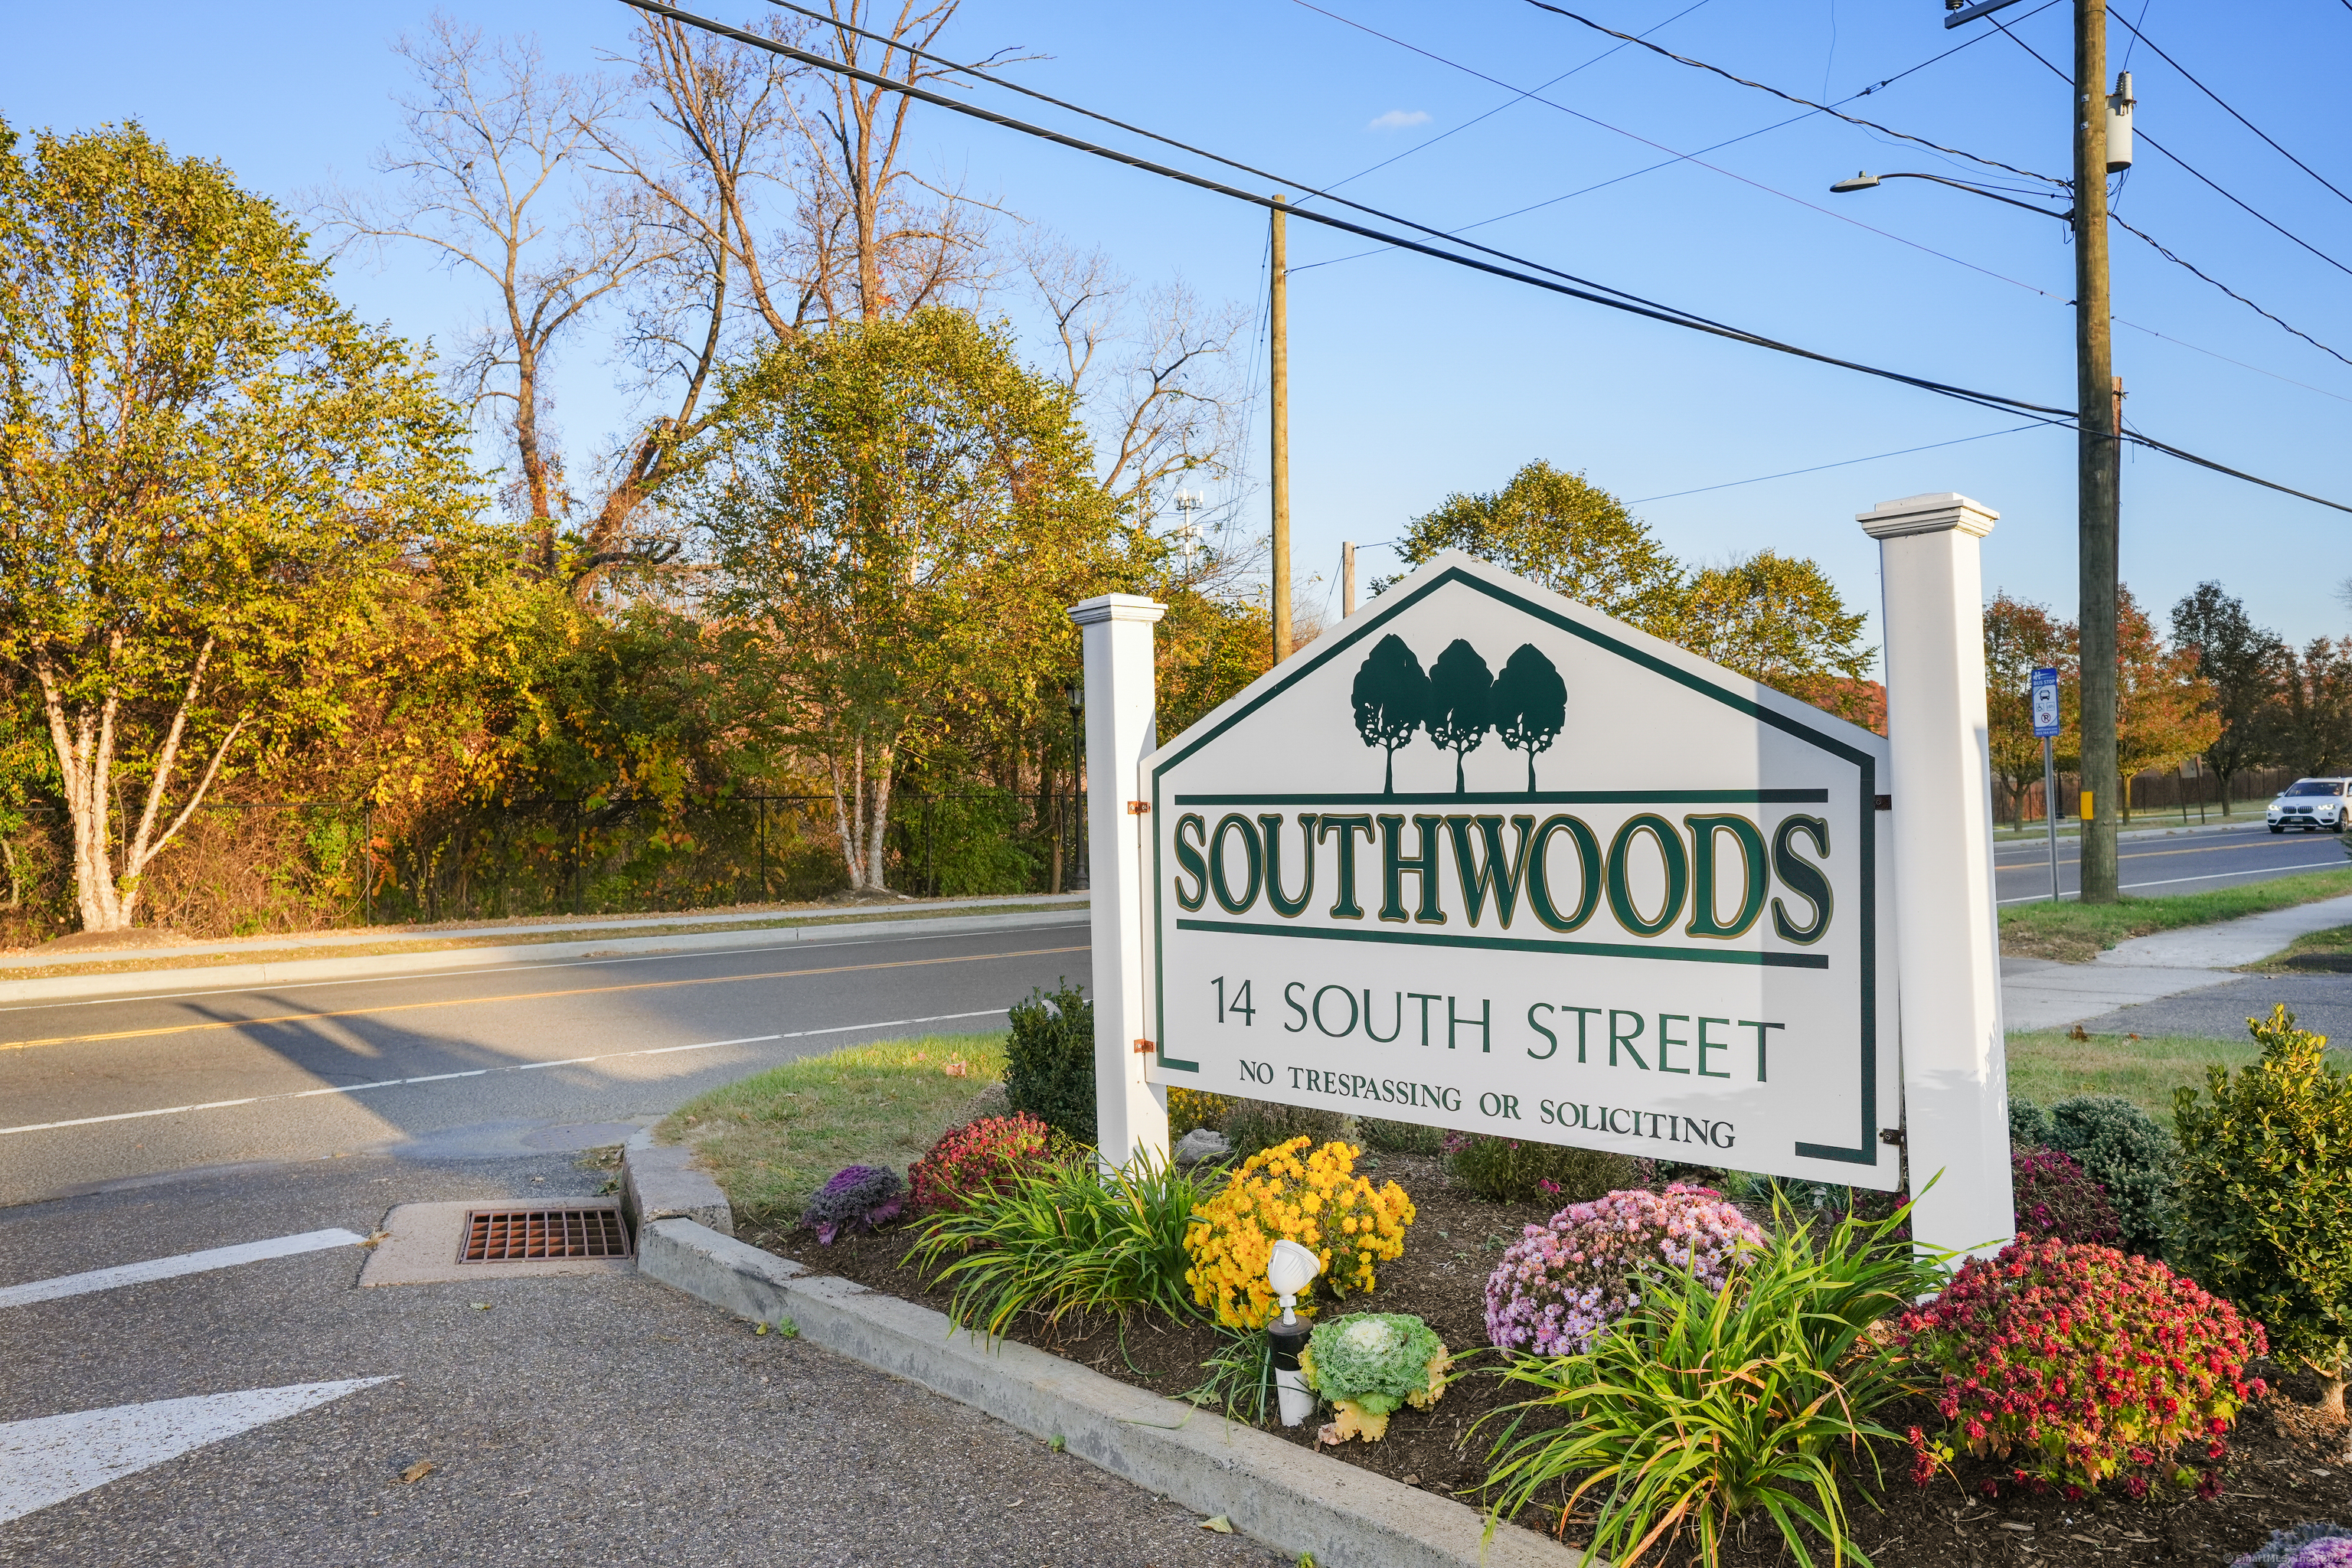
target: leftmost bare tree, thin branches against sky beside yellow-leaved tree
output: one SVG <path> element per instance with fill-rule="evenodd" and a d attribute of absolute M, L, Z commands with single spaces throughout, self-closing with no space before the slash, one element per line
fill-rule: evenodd
<path fill-rule="evenodd" d="M 454 364 L 475 409 L 503 404 L 541 571 L 557 569 L 569 510 L 562 451 L 546 428 L 548 364 L 567 331 L 663 256 L 635 188 L 602 183 L 586 160 L 621 108 L 619 85 L 548 71 L 534 38 L 485 40 L 435 12 L 395 49 L 419 92 L 400 99 L 405 136 L 376 158 L 400 181 L 381 197 L 327 193 L 322 221 L 343 242 L 414 242 L 496 292 L 489 320 Z"/>

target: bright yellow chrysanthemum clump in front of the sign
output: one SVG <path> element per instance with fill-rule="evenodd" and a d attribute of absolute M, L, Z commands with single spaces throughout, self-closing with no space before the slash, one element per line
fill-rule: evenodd
<path fill-rule="evenodd" d="M 1265 1284 L 1275 1241 L 1289 1237 L 1322 1260 L 1315 1288 L 1352 1295 L 1374 1288 L 1374 1265 L 1404 1255 L 1414 1201 L 1404 1187 L 1355 1173 L 1357 1150 L 1305 1138 L 1258 1150 L 1192 1211 L 1185 1284 L 1223 1328 L 1263 1328 L 1282 1302 Z M 1312 1307 L 1301 1300 L 1301 1314 Z"/>

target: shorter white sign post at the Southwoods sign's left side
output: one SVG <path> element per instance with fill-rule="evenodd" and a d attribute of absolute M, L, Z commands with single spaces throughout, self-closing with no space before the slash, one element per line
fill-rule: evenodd
<path fill-rule="evenodd" d="M 1150 818 L 1136 769 L 1157 745 L 1152 719 L 1152 625 L 1167 614 L 1129 592 L 1070 609 L 1087 661 L 1087 853 L 1094 907 L 1094 1114 L 1096 1147 L 1110 1168 L 1138 1152 L 1169 1157 L 1167 1091 L 1143 1077 L 1152 1025 L 1145 1018 L 1143 835 Z"/>

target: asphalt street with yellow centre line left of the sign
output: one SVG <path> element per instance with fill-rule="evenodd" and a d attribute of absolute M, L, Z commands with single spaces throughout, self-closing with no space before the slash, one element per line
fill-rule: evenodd
<path fill-rule="evenodd" d="M 1089 978 L 1082 922 L 0 1009 L 0 1204 L 621 1143 L 795 1056 L 1000 1027 L 1033 985 Z"/>

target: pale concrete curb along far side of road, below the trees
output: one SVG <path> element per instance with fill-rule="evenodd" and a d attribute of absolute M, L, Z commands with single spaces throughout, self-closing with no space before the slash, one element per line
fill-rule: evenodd
<path fill-rule="evenodd" d="M 844 943 L 875 936 L 962 936 L 974 931 L 1021 931 L 1030 926 L 1084 926 L 1087 910 L 1037 910 L 1035 914 L 943 914 L 858 919 L 830 926 L 774 926 L 764 931 L 680 931 L 675 936 L 614 936 L 579 943 L 501 943 L 496 947 L 442 947 L 435 952 L 379 952 L 355 959 L 289 959 L 285 964 L 207 964 L 191 969 L 134 969 L 101 976 L 49 976 L 0 980 L 5 1001 L 66 1001 L 85 997 L 136 997 L 146 992 L 245 990 L 296 980 L 353 980 L 369 976 L 454 973 L 482 966 L 532 964 L 633 952 L 706 952 Z"/>

